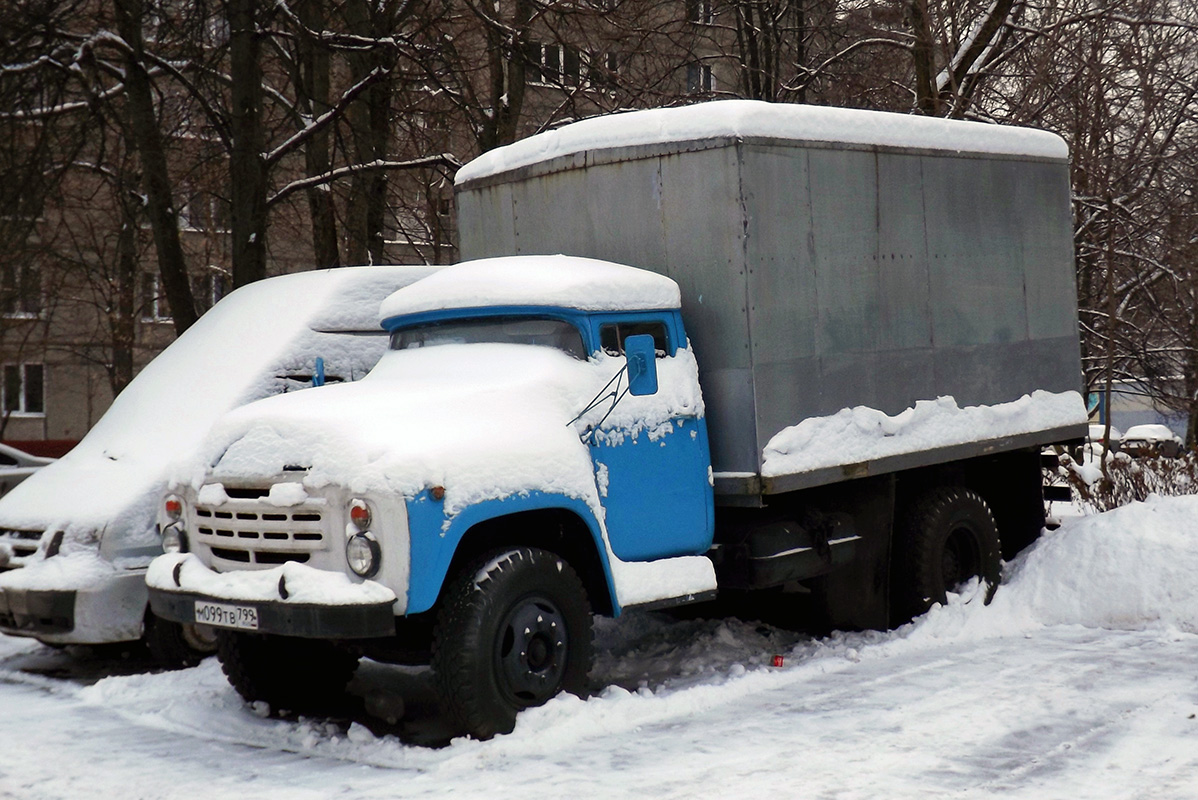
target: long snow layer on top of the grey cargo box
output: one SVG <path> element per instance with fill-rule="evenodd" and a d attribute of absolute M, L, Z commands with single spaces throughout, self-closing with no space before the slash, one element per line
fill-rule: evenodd
<path fill-rule="evenodd" d="M 460 186 L 466 181 L 587 151 L 720 138 L 846 143 L 1054 159 L 1069 157 L 1069 146 L 1060 137 L 1034 128 L 889 111 L 727 99 L 607 114 L 574 122 L 479 156 L 458 170 L 455 183 Z"/>

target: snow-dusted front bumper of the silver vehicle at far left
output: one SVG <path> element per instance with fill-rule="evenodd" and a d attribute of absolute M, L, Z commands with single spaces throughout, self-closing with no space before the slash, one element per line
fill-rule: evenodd
<path fill-rule="evenodd" d="M 0 587 L 0 631 L 52 644 L 133 642 L 145 608 L 145 570 L 73 589 Z"/>

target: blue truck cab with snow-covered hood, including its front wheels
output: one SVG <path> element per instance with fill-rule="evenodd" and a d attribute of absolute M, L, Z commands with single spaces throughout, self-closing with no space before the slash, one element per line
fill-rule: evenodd
<path fill-rule="evenodd" d="M 704 407 L 671 279 L 489 259 L 381 317 L 391 350 L 365 378 L 229 414 L 180 469 L 202 478 L 163 505 L 152 607 L 217 626 L 243 696 L 310 696 L 280 661 L 301 651 L 325 687 L 362 654 L 423 651 L 490 735 L 583 689 L 592 610 L 714 595 Z"/>

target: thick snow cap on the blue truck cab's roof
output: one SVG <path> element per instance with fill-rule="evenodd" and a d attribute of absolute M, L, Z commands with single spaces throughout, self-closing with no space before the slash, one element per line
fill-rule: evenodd
<path fill-rule="evenodd" d="M 583 311 L 678 308 L 678 284 L 646 269 L 569 255 L 519 255 L 465 261 L 397 291 L 379 309 L 386 325 L 400 314 L 494 305 Z"/>

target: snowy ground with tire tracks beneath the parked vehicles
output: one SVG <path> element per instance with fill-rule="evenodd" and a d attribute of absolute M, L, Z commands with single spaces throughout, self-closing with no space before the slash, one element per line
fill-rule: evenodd
<path fill-rule="evenodd" d="M 1066 522 L 991 606 L 891 634 L 633 614 L 600 626 L 597 696 L 441 747 L 420 671 L 363 666 L 369 727 L 286 721 L 214 660 L 149 674 L 0 637 L 0 798 L 1190 800 L 1196 575 L 1198 498 L 1152 499 Z M 406 721 L 380 720 L 398 696 Z"/>

